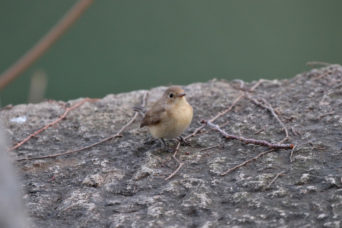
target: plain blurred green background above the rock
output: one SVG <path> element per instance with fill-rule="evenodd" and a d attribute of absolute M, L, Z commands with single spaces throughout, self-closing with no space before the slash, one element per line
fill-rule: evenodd
<path fill-rule="evenodd" d="M 75 2 L 1 0 L 0 73 Z M 1 105 L 213 78 L 292 78 L 310 61 L 342 63 L 341 8 L 341 0 L 95 1 L 0 92 Z"/>

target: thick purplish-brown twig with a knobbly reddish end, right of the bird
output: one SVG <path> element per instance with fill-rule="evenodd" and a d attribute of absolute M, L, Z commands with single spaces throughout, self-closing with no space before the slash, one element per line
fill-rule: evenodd
<path fill-rule="evenodd" d="M 272 143 L 266 142 L 265 140 L 248 139 L 248 138 L 244 138 L 244 137 L 241 137 L 241 136 L 229 135 L 224 130 L 219 128 L 219 125 L 211 123 L 210 120 L 202 120 L 202 122 L 203 123 L 207 123 L 209 126 L 214 127 L 226 139 L 236 139 L 236 140 L 239 140 L 241 142 L 244 142 L 245 144 L 254 144 L 254 145 L 260 145 L 260 146 L 267 146 L 270 149 L 285 149 L 285 150 L 288 150 L 288 149 L 292 149 L 293 148 L 293 144 L 272 144 Z"/>

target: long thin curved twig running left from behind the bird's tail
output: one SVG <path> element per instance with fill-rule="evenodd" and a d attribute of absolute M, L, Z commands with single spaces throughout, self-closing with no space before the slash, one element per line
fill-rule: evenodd
<path fill-rule="evenodd" d="M 144 97 L 143 97 L 143 105 L 142 105 L 142 106 L 145 106 L 147 94 L 148 94 L 148 92 L 146 92 L 146 93 L 144 94 Z M 137 117 L 138 115 L 139 115 L 139 113 L 138 113 L 138 112 L 135 112 L 135 114 L 134 114 L 134 116 L 132 117 L 132 119 L 131 119 L 126 125 L 124 125 L 124 126 L 123 126 L 115 135 L 112 135 L 112 136 L 110 136 L 110 137 L 108 137 L 108 138 L 106 138 L 106 139 L 103 139 L 103 140 L 101 140 L 101 141 L 99 141 L 99 142 L 97 142 L 97 143 L 91 144 L 91 145 L 89 145 L 89 146 L 86 146 L 86 147 L 83 147 L 83 148 L 80 148 L 80 149 L 77 149 L 77 150 L 67 151 L 67 152 L 64 152 L 64 153 L 58 153 L 58 154 L 56 154 L 56 155 L 48 155 L 48 156 L 34 157 L 34 158 L 22 158 L 22 159 L 13 160 L 13 162 L 15 162 L 15 161 L 24 161 L 24 160 L 33 160 L 33 159 L 43 159 L 43 158 L 55 158 L 55 157 L 62 156 L 62 155 L 68 155 L 68 154 L 70 154 L 70 153 L 75 153 L 75 152 L 78 152 L 78 151 L 81 151 L 81 150 L 86 150 L 86 149 L 88 149 L 88 148 L 90 148 L 90 147 L 96 146 L 96 145 L 101 144 L 101 143 L 103 143 L 103 142 L 107 142 L 107 141 L 109 141 L 109 140 L 111 140 L 111 139 L 113 139 L 113 138 L 115 138 L 115 137 L 121 137 L 121 136 L 122 136 L 122 135 L 120 135 L 121 131 L 122 131 L 123 129 L 125 129 L 128 125 L 130 125 L 130 124 L 136 119 L 136 117 Z"/>

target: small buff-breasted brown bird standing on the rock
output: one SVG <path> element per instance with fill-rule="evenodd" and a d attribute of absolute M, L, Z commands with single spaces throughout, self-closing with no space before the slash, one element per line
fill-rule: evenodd
<path fill-rule="evenodd" d="M 151 109 L 140 106 L 134 106 L 133 109 L 144 116 L 140 127 L 147 126 L 153 137 L 162 140 L 167 151 L 173 152 L 164 139 L 180 137 L 181 142 L 190 145 L 184 141 L 181 134 L 192 121 L 193 109 L 185 99 L 184 90 L 179 86 L 167 88 Z"/>

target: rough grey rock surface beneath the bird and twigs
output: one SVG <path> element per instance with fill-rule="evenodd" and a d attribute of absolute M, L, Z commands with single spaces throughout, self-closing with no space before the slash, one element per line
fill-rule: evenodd
<path fill-rule="evenodd" d="M 15 162 L 26 214 L 34 227 L 341 227 L 341 72 L 341 66 L 331 65 L 289 80 L 264 82 L 247 92 L 275 109 L 289 132 L 285 143 L 297 146 L 292 163 L 291 150 L 277 149 L 221 176 L 268 148 L 210 131 L 189 138 L 192 147 L 180 147 L 176 157 L 184 165 L 165 180 L 178 163 L 147 128 L 139 128 L 139 116 L 122 137 L 56 158 Z M 245 83 L 244 89 L 255 83 Z M 224 80 L 183 86 L 194 108 L 184 135 L 231 106 L 244 93 L 239 86 L 238 81 Z M 151 89 L 146 106 L 164 90 Z M 114 135 L 133 117 L 131 106 L 141 104 L 145 92 L 85 102 L 8 154 L 12 160 L 53 155 Z M 0 120 L 9 145 L 81 100 L 4 107 Z M 246 97 L 214 123 L 227 121 L 221 128 L 229 134 L 270 143 L 285 138 L 271 112 Z M 201 132 L 209 129 L 205 126 Z M 200 151 L 214 145 L 220 147 Z"/>

